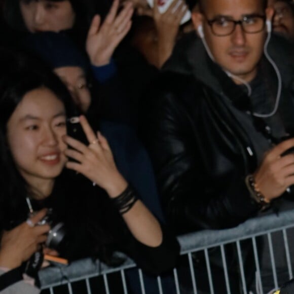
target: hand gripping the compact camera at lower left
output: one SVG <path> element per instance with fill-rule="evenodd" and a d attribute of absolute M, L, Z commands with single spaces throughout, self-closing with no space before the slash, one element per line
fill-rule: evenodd
<path fill-rule="evenodd" d="M 1 239 L 0 267 L 19 267 L 36 252 L 47 239 L 49 225 L 34 226 L 46 215 L 43 209 L 11 231 L 5 231 Z"/>

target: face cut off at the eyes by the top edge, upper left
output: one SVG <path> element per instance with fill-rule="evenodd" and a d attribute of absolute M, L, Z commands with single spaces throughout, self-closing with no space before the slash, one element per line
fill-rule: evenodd
<path fill-rule="evenodd" d="M 69 0 L 54 2 L 48 0 L 20 0 L 20 11 L 28 31 L 54 31 L 72 28 L 75 23 L 75 12 Z"/>

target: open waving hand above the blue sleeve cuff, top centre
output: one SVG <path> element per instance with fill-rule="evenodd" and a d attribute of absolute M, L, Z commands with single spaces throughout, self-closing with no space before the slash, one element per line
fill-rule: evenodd
<path fill-rule="evenodd" d="M 111 10 L 101 24 L 99 15 L 95 15 L 86 41 L 86 50 L 90 61 L 95 66 L 109 63 L 111 57 L 131 28 L 133 6 L 125 2 L 123 10 L 118 13 L 119 0 L 115 0 Z"/>

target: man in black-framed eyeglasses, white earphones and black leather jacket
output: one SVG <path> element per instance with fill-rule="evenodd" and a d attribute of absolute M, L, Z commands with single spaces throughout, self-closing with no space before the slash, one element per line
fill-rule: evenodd
<path fill-rule="evenodd" d="M 200 0 L 192 16 L 200 38 L 194 33 L 177 44 L 154 85 L 146 144 L 178 234 L 294 208 L 286 200 L 294 199 L 293 51 L 284 38 L 271 36 L 273 14 L 265 0 Z M 270 261 L 264 246 L 263 269 Z M 214 292 L 226 293 L 216 251 Z M 248 286 L 255 272 L 252 244 L 242 252 Z M 242 292 L 236 248 L 226 254 L 231 292 Z M 196 284 L 209 293 L 205 256 L 194 260 Z M 263 281 L 273 288 L 272 271 Z"/>

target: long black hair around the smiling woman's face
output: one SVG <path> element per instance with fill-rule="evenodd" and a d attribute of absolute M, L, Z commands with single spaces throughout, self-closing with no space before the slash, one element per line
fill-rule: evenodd
<path fill-rule="evenodd" d="M 63 102 L 66 111 L 72 112 L 73 108 L 66 88 L 49 71 L 40 72 L 20 67 L 11 68 L 0 78 L 0 166 L 2 170 L 0 209 L 5 207 L 4 211 L 0 212 L 0 217 L 6 219 L 13 218 L 15 215 L 19 217 L 24 213 L 23 202 L 29 190 L 25 180 L 18 172 L 9 150 L 7 123 L 24 95 L 40 87 L 52 90 L 57 98 Z M 9 224 L 6 225 L 9 227 Z"/>

